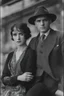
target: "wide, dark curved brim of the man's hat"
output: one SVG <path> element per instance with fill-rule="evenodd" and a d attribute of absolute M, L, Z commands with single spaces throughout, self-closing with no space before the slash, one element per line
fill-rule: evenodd
<path fill-rule="evenodd" d="M 30 24 L 32 24 L 32 25 L 35 25 L 35 20 L 36 20 L 36 18 L 38 18 L 38 17 L 40 17 L 40 16 L 46 16 L 46 17 L 48 17 L 48 18 L 50 18 L 50 20 L 52 21 L 52 22 L 54 22 L 55 20 L 56 20 L 56 15 L 55 14 L 42 14 L 42 15 L 36 15 L 36 16 L 32 16 L 32 17 L 30 17 L 29 19 L 28 19 L 28 22 L 30 23 Z"/>

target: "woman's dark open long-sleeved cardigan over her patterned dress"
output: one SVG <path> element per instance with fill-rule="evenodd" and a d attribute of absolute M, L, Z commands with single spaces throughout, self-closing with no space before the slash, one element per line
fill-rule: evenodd
<path fill-rule="evenodd" d="M 30 82 L 22 82 L 22 81 L 18 81 L 17 80 L 17 76 L 11 76 L 10 70 L 8 68 L 8 63 L 11 60 L 12 56 L 13 56 L 14 52 L 9 53 L 4 69 L 3 69 L 3 73 L 2 73 L 2 82 L 5 85 L 9 85 L 9 86 L 16 86 L 18 84 L 24 85 L 27 87 L 27 89 L 32 85 L 34 79 L 32 79 L 32 81 Z M 36 53 L 34 50 L 32 50 L 31 48 L 27 48 L 25 55 L 22 59 L 22 61 L 20 62 L 20 68 L 22 70 L 22 72 L 32 72 L 32 74 L 35 77 L 35 73 L 36 73 Z M 23 74 L 22 73 L 22 74 Z M 20 74 L 19 74 L 20 75 Z M 4 80 L 4 77 L 8 76 L 9 80 Z"/>

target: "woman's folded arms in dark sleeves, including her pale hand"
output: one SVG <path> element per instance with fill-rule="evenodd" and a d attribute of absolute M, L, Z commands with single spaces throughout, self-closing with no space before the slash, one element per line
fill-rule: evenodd
<path fill-rule="evenodd" d="M 28 52 L 28 55 L 26 55 L 27 58 L 25 60 L 25 71 L 21 75 L 16 75 L 16 76 L 11 76 L 11 73 L 8 69 L 8 62 L 9 59 L 11 58 L 11 55 L 8 55 L 4 70 L 3 70 L 3 75 L 2 75 L 2 81 L 5 85 L 17 85 L 19 81 L 22 82 L 29 82 L 33 79 L 36 73 L 36 54 L 35 51 L 31 50 Z"/>

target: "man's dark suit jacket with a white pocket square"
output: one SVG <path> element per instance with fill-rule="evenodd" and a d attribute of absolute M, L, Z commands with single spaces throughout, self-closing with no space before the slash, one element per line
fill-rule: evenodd
<path fill-rule="evenodd" d="M 38 38 L 34 37 L 29 46 L 37 50 Z M 50 33 L 44 45 L 41 48 L 39 63 L 45 70 L 44 83 L 47 87 L 56 85 L 56 82 L 60 80 L 62 74 L 62 50 L 61 50 L 61 38 L 59 32 L 50 30 Z M 44 61 L 44 64 L 43 64 Z"/>

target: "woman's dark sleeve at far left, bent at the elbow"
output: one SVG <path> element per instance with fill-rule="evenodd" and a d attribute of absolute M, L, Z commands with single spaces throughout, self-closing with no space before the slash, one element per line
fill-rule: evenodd
<path fill-rule="evenodd" d="M 11 76 L 11 73 L 8 68 L 8 63 L 9 63 L 11 57 L 12 57 L 12 53 L 10 53 L 6 59 L 3 73 L 2 73 L 2 78 L 1 78 L 4 85 L 10 85 L 10 86 L 15 85 L 18 82 L 17 76 Z"/>

